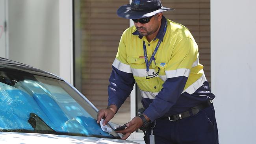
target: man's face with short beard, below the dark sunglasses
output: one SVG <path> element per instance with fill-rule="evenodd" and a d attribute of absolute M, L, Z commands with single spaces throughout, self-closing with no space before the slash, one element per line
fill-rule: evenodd
<path fill-rule="evenodd" d="M 141 24 L 140 22 L 137 22 L 137 23 L 134 22 L 134 25 L 137 31 L 139 31 L 139 34 L 143 36 L 153 34 L 158 30 L 158 26 L 159 26 L 156 15 L 154 15 L 150 19 L 150 21 L 146 24 Z"/>

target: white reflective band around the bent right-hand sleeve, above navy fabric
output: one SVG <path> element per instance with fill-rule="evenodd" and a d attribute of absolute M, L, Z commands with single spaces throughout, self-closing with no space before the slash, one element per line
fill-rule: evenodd
<path fill-rule="evenodd" d="M 175 78 L 178 76 L 186 76 L 188 78 L 190 70 L 187 68 L 179 68 L 177 70 L 165 70 L 166 78 Z"/>

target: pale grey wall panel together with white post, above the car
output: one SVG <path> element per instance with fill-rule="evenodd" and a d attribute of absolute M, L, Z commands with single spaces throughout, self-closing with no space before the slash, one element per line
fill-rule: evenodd
<path fill-rule="evenodd" d="M 9 59 L 72 83 L 72 0 L 8 0 Z"/>

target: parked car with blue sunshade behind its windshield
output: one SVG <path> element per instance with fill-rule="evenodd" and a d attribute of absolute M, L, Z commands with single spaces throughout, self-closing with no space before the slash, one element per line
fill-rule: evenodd
<path fill-rule="evenodd" d="M 58 76 L 0 58 L 0 144 L 137 144 L 103 131 L 97 112 Z"/>

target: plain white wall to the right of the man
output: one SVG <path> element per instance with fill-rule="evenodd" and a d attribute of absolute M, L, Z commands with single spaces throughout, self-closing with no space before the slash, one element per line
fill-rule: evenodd
<path fill-rule="evenodd" d="M 256 1 L 211 1 L 211 87 L 219 142 L 255 144 Z"/>

